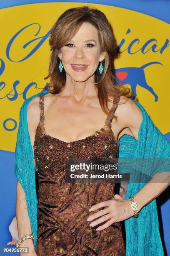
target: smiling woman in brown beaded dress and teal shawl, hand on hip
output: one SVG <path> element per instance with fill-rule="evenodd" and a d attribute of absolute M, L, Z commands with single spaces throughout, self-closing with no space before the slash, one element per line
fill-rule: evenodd
<path fill-rule="evenodd" d="M 120 225 L 125 220 L 126 255 L 163 255 L 154 199 L 168 180 L 130 183 L 126 199 L 114 195 L 112 183 L 65 183 L 67 158 L 170 155 L 170 143 L 143 107 L 113 82 L 116 43 L 107 18 L 87 6 L 69 9 L 54 24 L 50 46 L 52 87 L 30 97 L 20 110 L 18 234 L 33 234 L 28 238 L 34 243 L 24 238 L 19 246 L 29 247 L 30 255 L 125 255 Z M 154 179 L 158 174 L 152 166 L 149 170 Z"/>

